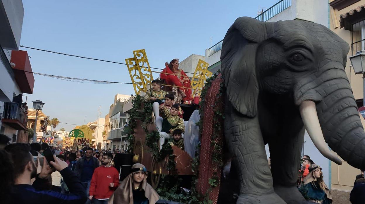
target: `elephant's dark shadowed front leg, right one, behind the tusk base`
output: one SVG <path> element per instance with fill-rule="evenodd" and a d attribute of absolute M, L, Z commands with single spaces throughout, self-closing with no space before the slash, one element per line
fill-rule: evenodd
<path fill-rule="evenodd" d="M 296 186 L 304 138 L 304 128 L 298 126 L 303 123 L 297 118 L 285 124 L 281 134 L 269 142 L 274 190 L 286 203 L 307 203 Z"/>

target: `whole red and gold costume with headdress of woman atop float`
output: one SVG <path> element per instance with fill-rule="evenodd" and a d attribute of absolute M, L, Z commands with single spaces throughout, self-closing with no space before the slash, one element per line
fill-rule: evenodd
<path fill-rule="evenodd" d="M 174 59 L 174 60 L 178 61 L 178 59 Z M 168 73 L 168 74 L 164 74 L 164 73 Z M 171 75 L 171 74 L 176 74 L 179 76 L 175 76 L 175 75 Z M 188 89 L 188 88 L 191 88 L 190 80 L 183 70 L 178 69 L 176 72 L 173 72 L 169 68 L 169 66 L 166 65 L 166 68 L 160 74 L 160 78 L 162 80 L 165 80 L 167 85 L 179 86 L 179 87 L 172 87 L 172 91 L 176 92 L 175 100 L 174 100 L 175 103 L 180 103 L 180 101 L 181 101 L 181 93 L 178 91 L 178 89 L 184 91 L 184 93 L 186 95 L 186 97 L 183 99 L 184 101 L 192 100 L 191 89 Z M 186 87 L 186 88 L 182 88 L 182 87 Z"/>

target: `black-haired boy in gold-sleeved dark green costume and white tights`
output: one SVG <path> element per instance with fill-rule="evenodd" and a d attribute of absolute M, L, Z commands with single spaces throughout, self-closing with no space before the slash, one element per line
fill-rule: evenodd
<path fill-rule="evenodd" d="M 178 116 L 179 106 L 177 104 L 172 105 L 170 111 L 167 108 L 162 110 L 162 118 L 156 118 L 156 126 L 158 132 L 160 132 L 160 149 L 165 143 L 165 138 L 171 138 L 174 130 L 180 129 L 184 133 L 184 120 Z M 163 119 L 161 121 L 161 119 Z"/>

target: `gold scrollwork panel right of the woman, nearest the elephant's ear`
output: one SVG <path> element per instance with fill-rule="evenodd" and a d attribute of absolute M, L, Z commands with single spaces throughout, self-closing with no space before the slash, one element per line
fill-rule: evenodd
<path fill-rule="evenodd" d="M 205 80 L 212 76 L 212 72 L 208 71 L 208 63 L 199 59 L 198 64 L 196 65 L 194 75 L 191 80 L 191 87 L 194 88 L 193 96 L 196 93 L 201 93 L 203 86 L 205 84 Z"/>

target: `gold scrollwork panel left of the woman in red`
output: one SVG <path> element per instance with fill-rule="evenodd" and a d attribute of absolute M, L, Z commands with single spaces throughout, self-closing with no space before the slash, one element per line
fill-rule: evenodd
<path fill-rule="evenodd" d="M 153 81 L 153 76 L 145 49 L 134 50 L 134 57 L 126 59 L 128 72 L 132 80 L 134 92 L 147 92 L 147 85 Z"/>

